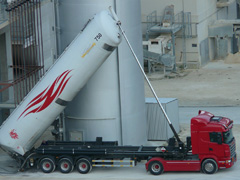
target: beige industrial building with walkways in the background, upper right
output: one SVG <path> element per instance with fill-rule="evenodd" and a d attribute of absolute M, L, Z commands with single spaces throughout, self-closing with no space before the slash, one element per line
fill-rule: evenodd
<path fill-rule="evenodd" d="M 160 27 L 164 27 L 164 20 L 170 22 L 169 29 L 173 31 L 167 33 L 174 34 L 176 63 L 200 68 L 213 59 L 238 52 L 238 3 L 235 0 L 141 0 L 143 35 L 164 36 L 166 27 Z M 170 5 L 172 14 L 167 10 Z M 158 25 L 157 30 L 154 25 Z"/>

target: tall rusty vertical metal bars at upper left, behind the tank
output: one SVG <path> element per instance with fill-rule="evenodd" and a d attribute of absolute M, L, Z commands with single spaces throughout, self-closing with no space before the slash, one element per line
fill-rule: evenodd
<path fill-rule="evenodd" d="M 44 74 L 42 1 L 17 0 L 7 4 L 6 0 L 0 0 L 0 26 L 8 21 L 10 27 L 12 64 L 9 67 L 12 68 L 13 79 L 8 82 L 13 86 L 15 105 Z M 1 88 L 0 92 L 8 87 Z"/>

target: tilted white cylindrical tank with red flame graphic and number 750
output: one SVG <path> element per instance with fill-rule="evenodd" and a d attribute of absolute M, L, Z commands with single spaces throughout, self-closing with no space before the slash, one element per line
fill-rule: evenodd
<path fill-rule="evenodd" d="M 120 42 L 110 12 L 95 15 L 0 127 L 1 147 L 29 151 Z"/>

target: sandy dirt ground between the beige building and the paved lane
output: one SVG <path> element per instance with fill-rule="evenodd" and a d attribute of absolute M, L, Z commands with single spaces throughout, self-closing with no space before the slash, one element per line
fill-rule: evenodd
<path fill-rule="evenodd" d="M 161 78 L 149 75 L 159 97 L 174 97 L 180 106 L 239 106 L 240 54 L 213 61 L 201 69 L 184 70 Z M 145 82 L 145 96 L 153 97 Z"/>

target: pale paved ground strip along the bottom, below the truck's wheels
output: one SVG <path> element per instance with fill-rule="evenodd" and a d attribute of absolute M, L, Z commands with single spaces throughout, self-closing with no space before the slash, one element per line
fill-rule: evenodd
<path fill-rule="evenodd" d="M 199 172 L 165 172 L 160 176 L 153 176 L 144 170 L 144 165 L 138 165 L 134 168 L 96 168 L 90 174 L 79 174 L 77 172 L 72 172 L 70 174 L 61 174 L 59 172 L 54 172 L 51 174 L 43 174 L 40 172 L 28 172 L 15 175 L 1 176 L 0 179 L 81 179 L 81 180 L 106 180 L 106 179 L 158 179 L 158 180 L 239 180 L 239 164 L 236 164 L 232 169 L 222 170 L 214 175 L 206 175 Z"/>

